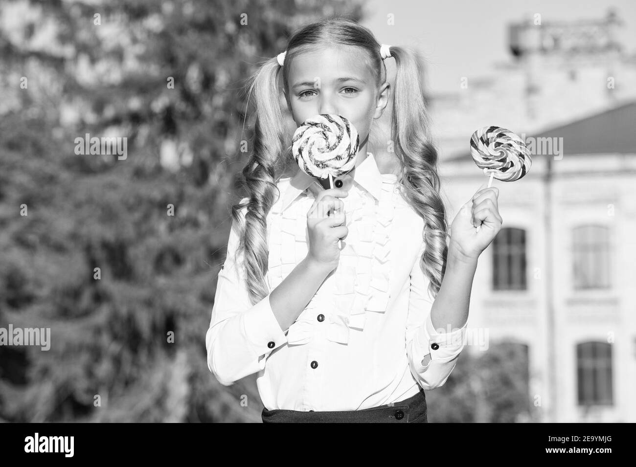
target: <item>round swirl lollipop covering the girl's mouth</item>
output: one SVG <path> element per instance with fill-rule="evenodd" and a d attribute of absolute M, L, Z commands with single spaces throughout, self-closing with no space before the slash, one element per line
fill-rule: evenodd
<path fill-rule="evenodd" d="M 360 138 L 356 128 L 341 115 L 320 114 L 300 125 L 291 140 L 291 150 L 300 170 L 317 179 L 341 177 L 356 166 Z M 342 248 L 342 241 L 338 240 Z"/>

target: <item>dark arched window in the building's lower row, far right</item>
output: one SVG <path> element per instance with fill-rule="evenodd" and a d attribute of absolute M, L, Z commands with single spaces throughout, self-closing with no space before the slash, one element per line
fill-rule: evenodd
<path fill-rule="evenodd" d="M 579 405 L 612 405 L 611 344 L 577 344 L 576 369 Z"/>

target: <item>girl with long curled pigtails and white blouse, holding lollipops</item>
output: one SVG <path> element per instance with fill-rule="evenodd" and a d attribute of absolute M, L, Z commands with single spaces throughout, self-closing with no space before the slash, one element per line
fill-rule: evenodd
<path fill-rule="evenodd" d="M 368 147 L 389 102 L 388 57 L 399 175 L 380 173 Z M 359 132 L 356 166 L 333 189 L 294 162 L 279 77 L 297 126 L 338 114 Z M 258 372 L 263 422 L 426 423 L 424 389 L 457 363 L 477 259 L 501 228 L 499 193 L 480 189 L 447 242 L 422 82 L 417 53 L 340 18 L 298 30 L 252 77 L 249 196 L 233 206 L 206 347 L 221 384 Z"/>

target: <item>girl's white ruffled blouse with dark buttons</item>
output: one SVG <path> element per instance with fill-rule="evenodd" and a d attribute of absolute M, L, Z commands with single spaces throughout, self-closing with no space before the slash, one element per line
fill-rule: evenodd
<path fill-rule="evenodd" d="M 280 197 L 267 216 L 270 294 L 307 256 L 314 202 L 307 188 L 314 180 L 299 170 L 278 183 Z M 338 267 L 288 329 L 280 328 L 269 295 L 250 304 L 242 255 L 238 267 L 232 261 L 239 240 L 233 222 L 205 336 L 207 364 L 221 384 L 258 372 L 266 409 L 307 411 L 368 409 L 413 396 L 418 385 L 446 382 L 467 323 L 450 333 L 434 329 L 419 264 L 424 220 L 396 182 L 379 172 L 370 152 L 356 167 L 342 198 L 349 234 Z"/>

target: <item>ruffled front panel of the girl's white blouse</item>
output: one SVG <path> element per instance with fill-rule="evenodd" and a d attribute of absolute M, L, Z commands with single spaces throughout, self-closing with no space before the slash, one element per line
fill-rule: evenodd
<path fill-rule="evenodd" d="M 385 313 L 391 298 L 391 229 L 396 176 L 382 174 L 379 200 L 358 186 L 343 201 L 349 234 L 333 273 L 287 330 L 289 345 L 307 344 L 314 337 L 316 309 L 326 315 L 329 341 L 349 343 L 350 329 L 361 331 L 366 313 Z M 310 195 L 312 196 L 312 195 Z M 313 196 L 312 196 L 313 197 Z M 293 271 L 308 252 L 307 213 L 294 202 L 284 212 L 276 203 L 270 217 L 268 281 L 271 290 Z"/>

